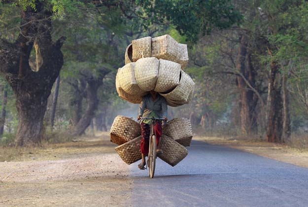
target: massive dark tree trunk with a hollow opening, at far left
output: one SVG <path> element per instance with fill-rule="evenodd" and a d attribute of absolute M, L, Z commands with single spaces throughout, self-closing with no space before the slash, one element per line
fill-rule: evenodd
<path fill-rule="evenodd" d="M 63 65 L 61 47 L 65 40 L 56 43 L 51 38 L 51 13 L 44 9 L 43 2 L 35 1 L 36 9 L 22 12 L 21 34 L 15 43 L 1 40 L 0 71 L 16 95 L 19 123 L 16 145 L 37 145 L 42 137 L 43 117 L 47 98 Z M 29 58 L 34 40 L 39 50 L 40 67 L 33 71 Z"/>

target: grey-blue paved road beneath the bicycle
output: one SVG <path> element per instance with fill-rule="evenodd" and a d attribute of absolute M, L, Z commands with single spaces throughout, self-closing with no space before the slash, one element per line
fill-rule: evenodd
<path fill-rule="evenodd" d="M 193 141 L 171 167 L 157 159 L 155 177 L 130 167 L 129 206 L 308 207 L 308 168 Z"/>

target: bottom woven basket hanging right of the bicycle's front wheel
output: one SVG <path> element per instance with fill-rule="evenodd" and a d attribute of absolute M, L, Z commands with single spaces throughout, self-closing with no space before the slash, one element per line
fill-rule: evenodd
<path fill-rule="evenodd" d="M 158 154 L 157 156 L 172 167 L 184 159 L 188 154 L 185 147 L 164 134 L 160 139 L 160 148 L 163 150 L 163 154 Z"/>

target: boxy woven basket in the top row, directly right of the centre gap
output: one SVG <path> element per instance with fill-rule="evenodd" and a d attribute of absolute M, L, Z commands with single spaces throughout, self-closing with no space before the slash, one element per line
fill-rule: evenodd
<path fill-rule="evenodd" d="M 169 34 L 152 38 L 151 45 L 152 57 L 173 62 L 178 62 L 181 57 L 178 43 Z"/>

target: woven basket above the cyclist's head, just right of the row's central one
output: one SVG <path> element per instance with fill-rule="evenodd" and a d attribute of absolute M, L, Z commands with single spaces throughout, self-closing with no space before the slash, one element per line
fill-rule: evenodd
<path fill-rule="evenodd" d="M 159 60 L 159 72 L 155 91 L 170 92 L 180 82 L 181 65 L 170 60 Z"/>

